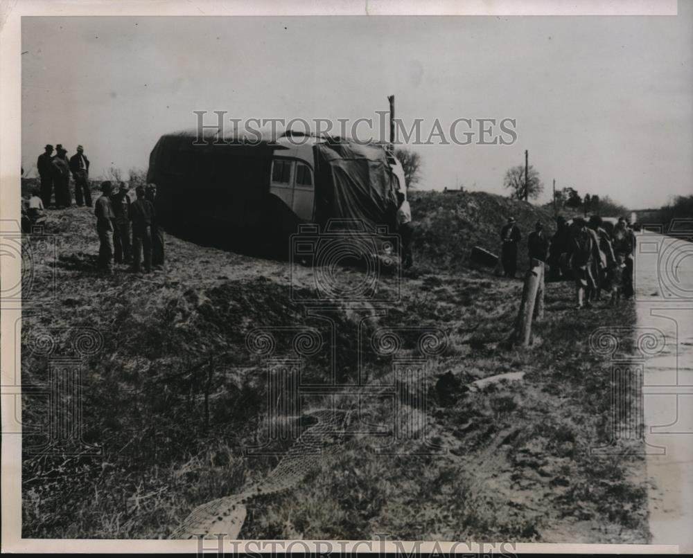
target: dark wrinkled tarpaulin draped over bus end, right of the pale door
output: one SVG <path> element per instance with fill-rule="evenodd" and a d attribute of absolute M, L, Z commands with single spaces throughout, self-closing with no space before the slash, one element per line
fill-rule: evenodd
<path fill-rule="evenodd" d="M 319 143 L 315 152 L 317 222 L 358 219 L 366 226 L 394 223 L 394 177 L 385 150 L 340 140 Z"/>

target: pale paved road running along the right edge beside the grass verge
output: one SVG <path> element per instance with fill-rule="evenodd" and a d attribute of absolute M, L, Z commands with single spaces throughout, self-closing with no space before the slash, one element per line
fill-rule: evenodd
<path fill-rule="evenodd" d="M 652 543 L 693 552 L 693 242 L 638 235 L 635 298 Z"/>

